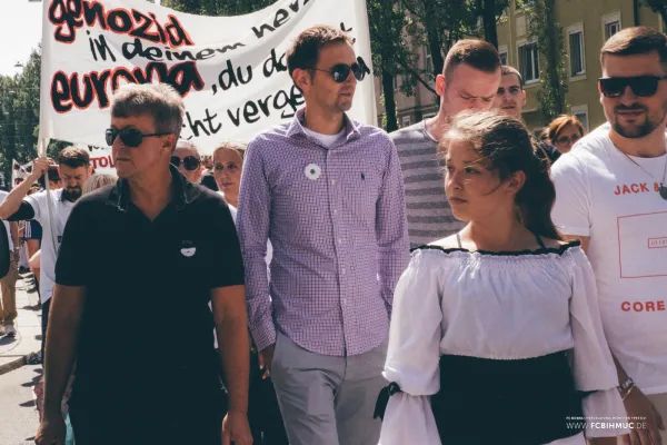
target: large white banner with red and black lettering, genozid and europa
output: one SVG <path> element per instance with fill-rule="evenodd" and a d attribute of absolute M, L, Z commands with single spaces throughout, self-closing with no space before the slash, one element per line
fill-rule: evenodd
<path fill-rule="evenodd" d="M 285 52 L 322 23 L 349 31 L 368 68 L 350 116 L 377 119 L 361 0 L 279 0 L 238 17 L 192 16 L 143 0 L 44 0 L 43 23 L 40 140 L 107 147 L 112 91 L 161 81 L 185 99 L 181 138 L 205 154 L 225 140 L 247 141 L 303 105 Z M 91 155 L 100 168 L 112 167 L 108 150 Z"/>

